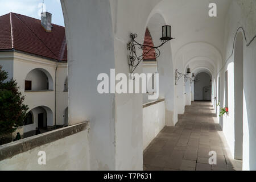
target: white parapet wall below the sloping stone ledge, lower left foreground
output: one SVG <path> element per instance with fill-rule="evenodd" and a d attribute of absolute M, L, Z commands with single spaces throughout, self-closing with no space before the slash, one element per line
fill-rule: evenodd
<path fill-rule="evenodd" d="M 51 131 L 52 132 L 52 131 Z M 53 131 L 54 132 L 54 131 Z M 26 140 L 26 139 L 25 139 Z M 22 142 L 22 141 L 21 141 Z M 0 170 L 73 171 L 89 170 L 88 130 L 44 144 L 0 161 Z M 38 152 L 46 152 L 46 165 L 38 164 Z"/>

